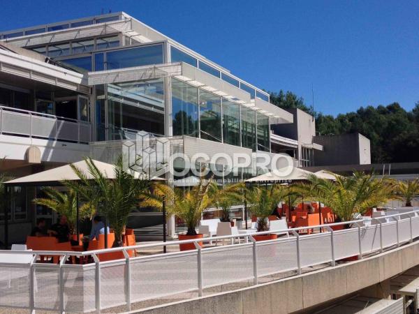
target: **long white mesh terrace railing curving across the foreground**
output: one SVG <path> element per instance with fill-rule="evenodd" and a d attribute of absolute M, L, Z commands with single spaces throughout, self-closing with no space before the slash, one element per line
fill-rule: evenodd
<path fill-rule="evenodd" d="M 203 289 L 251 281 L 260 277 L 295 271 L 346 257 L 362 257 L 385 248 L 400 246 L 419 237 L 419 211 L 382 218 L 353 220 L 343 223 L 288 229 L 288 236 L 269 241 L 255 241 L 261 234 L 284 233 L 286 230 L 256 232 L 235 236 L 211 237 L 185 241 L 159 242 L 87 252 L 0 251 L 0 306 L 85 313 L 114 306 L 157 299 L 170 294 L 198 292 Z M 386 222 L 383 222 L 385 219 Z M 348 225 L 344 230 L 332 227 Z M 323 232 L 302 235 L 308 229 Z M 290 235 L 290 233 L 292 235 Z M 198 241 L 248 241 L 227 246 L 201 248 Z M 147 248 L 195 244 L 196 249 L 167 254 L 129 257 L 128 251 Z M 230 241 L 228 241 L 230 243 Z M 124 259 L 100 262 L 98 255 L 122 251 Z M 32 255 L 31 263 L 1 262 L 1 255 Z M 40 255 L 61 255 L 60 264 L 36 263 Z M 91 256 L 90 264 L 65 264 L 71 256 Z"/>

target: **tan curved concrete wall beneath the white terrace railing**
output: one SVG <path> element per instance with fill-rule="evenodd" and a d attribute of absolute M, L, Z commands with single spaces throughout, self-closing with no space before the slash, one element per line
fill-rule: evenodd
<path fill-rule="evenodd" d="M 310 312 L 316 306 L 383 283 L 419 264 L 419 241 L 391 251 L 312 271 L 300 276 L 222 292 L 208 297 L 154 306 L 133 313 L 243 313 Z"/>

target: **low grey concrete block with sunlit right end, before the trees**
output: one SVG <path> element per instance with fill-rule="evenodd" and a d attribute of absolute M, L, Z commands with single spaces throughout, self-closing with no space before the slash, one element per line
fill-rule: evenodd
<path fill-rule="evenodd" d="M 314 165 L 365 165 L 371 163 L 369 140 L 359 133 L 318 135 L 314 142 L 323 145 L 315 151 Z"/>

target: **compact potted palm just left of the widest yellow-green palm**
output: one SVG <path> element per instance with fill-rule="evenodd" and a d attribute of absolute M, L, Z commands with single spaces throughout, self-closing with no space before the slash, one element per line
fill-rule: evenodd
<path fill-rule="evenodd" d="M 268 216 L 277 208 L 279 201 L 286 199 L 288 195 L 294 195 L 293 189 L 274 184 L 267 188 L 258 186 L 249 188 L 247 193 L 248 202 L 251 205 L 250 211 L 258 217 L 258 232 L 269 230 Z"/>

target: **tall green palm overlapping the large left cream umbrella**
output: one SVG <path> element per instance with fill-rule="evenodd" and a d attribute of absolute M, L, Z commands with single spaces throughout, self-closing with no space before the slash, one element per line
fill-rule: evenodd
<path fill-rule="evenodd" d="M 148 193 L 151 181 L 136 179 L 131 173 L 126 172 L 122 157 L 119 157 L 115 163 L 115 179 L 105 177 L 105 174 L 98 170 L 91 158 L 87 158 L 85 161 L 92 179 L 72 165 L 80 182 L 66 181 L 66 185 L 77 191 L 91 209 L 105 216 L 115 232 L 114 246 L 122 246 L 122 235 L 128 222 L 128 216 L 137 207 L 140 196 Z"/>

